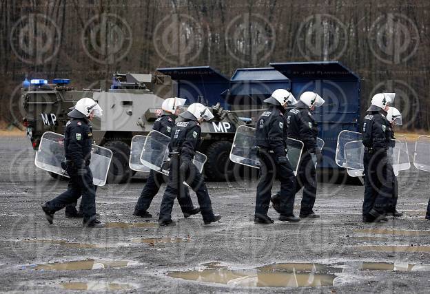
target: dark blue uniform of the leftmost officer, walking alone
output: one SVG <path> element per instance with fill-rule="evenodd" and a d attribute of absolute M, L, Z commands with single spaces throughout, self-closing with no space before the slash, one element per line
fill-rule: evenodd
<path fill-rule="evenodd" d="M 43 207 L 54 213 L 76 203 L 82 196 L 81 206 L 83 222 L 88 223 L 96 219 L 96 187 L 92 182 L 90 170 L 92 128 L 86 118 L 72 118 L 64 134 L 64 150 L 67 173 L 70 176 L 68 190 L 57 198 L 46 202 Z"/>

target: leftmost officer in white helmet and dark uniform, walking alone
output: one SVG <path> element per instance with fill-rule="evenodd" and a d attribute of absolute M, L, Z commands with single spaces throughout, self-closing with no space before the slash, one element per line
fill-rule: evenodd
<path fill-rule="evenodd" d="M 45 218 L 50 224 L 54 213 L 68 204 L 75 203 L 81 196 L 84 227 L 101 227 L 96 218 L 96 187 L 90 170 L 92 130 L 90 120 L 101 116 L 101 107 L 91 98 L 81 98 L 68 113 L 70 120 L 64 133 L 65 165 L 70 176 L 67 191 L 42 205 Z"/>

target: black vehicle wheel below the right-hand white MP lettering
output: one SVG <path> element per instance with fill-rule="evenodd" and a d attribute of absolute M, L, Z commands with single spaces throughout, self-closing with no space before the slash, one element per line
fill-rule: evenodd
<path fill-rule="evenodd" d="M 205 175 L 208 180 L 229 180 L 234 175 L 234 162 L 229 159 L 232 143 L 217 141 L 209 145 L 206 150 L 207 162 Z"/>

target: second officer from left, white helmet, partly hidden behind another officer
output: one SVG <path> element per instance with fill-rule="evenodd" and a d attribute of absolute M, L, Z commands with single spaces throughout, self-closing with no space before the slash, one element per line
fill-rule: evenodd
<path fill-rule="evenodd" d="M 174 121 L 179 114 L 179 108 L 185 104 L 185 101 L 185 99 L 178 97 L 165 99 L 161 105 L 163 114 L 155 120 L 152 129 L 170 137 L 172 128 L 174 127 Z M 164 177 L 165 176 L 163 174 L 151 169 L 150 176 L 148 176 L 146 185 L 142 190 L 136 207 L 134 208 L 134 216 L 152 218 L 152 214 L 148 213 L 147 209 L 150 207 L 152 199 L 156 196 L 156 193 L 160 190 L 161 184 L 165 182 Z M 185 218 L 200 212 L 199 208 L 194 208 L 188 188 L 185 188 L 184 197 L 178 197 L 178 202 Z"/>

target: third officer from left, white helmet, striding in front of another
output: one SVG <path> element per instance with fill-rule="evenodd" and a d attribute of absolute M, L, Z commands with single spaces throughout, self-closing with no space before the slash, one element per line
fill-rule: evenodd
<path fill-rule="evenodd" d="M 203 176 L 192 163 L 192 160 L 201 143 L 201 127 L 199 123 L 203 120 L 211 120 L 214 116 L 201 103 L 193 103 L 186 112 L 179 116 L 184 120 L 176 123 L 172 129 L 169 144 L 170 155 L 172 156 L 169 182 L 161 202 L 158 224 L 162 227 L 175 225 L 171 218 L 173 202 L 174 198 L 181 197 L 183 193 L 184 179 L 187 185 L 190 185 L 196 192 L 203 222 L 210 224 L 220 220 L 221 216 L 214 215 Z"/>

